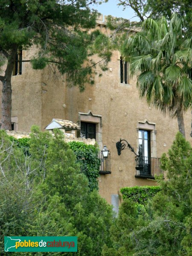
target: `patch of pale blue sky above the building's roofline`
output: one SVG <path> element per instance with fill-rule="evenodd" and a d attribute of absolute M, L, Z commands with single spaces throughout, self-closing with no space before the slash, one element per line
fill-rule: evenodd
<path fill-rule="evenodd" d="M 134 17 L 134 11 L 131 7 L 126 8 L 123 11 L 122 6 L 117 6 L 119 3 L 118 0 L 108 0 L 108 3 L 102 3 L 101 5 L 92 4 L 92 8 L 98 10 L 101 14 L 104 15 L 111 15 L 114 17 L 122 17 L 131 21 L 139 21 L 138 17 Z"/>

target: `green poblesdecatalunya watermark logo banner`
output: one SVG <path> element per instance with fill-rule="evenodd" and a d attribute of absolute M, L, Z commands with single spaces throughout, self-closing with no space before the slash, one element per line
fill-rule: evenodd
<path fill-rule="evenodd" d="M 4 236 L 5 252 L 77 252 L 77 236 Z"/>

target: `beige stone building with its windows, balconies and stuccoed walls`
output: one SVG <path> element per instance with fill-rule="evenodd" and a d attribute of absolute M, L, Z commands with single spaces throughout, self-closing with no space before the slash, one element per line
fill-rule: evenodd
<path fill-rule="evenodd" d="M 110 33 L 102 15 L 97 20 L 97 29 Z M 136 29 L 132 28 L 132 32 Z M 35 48 L 23 51 L 23 60 L 34 52 Z M 105 165 L 107 160 L 102 160 L 99 192 L 113 204 L 122 187 L 155 185 L 152 178 L 160 172 L 159 158 L 170 148 L 178 131 L 177 119 L 170 119 L 139 99 L 136 78 L 131 79 L 128 71 L 128 63 L 114 51 L 108 70 L 101 77 L 93 74 L 95 84 L 87 85 L 82 93 L 76 87 L 67 87 L 63 77 L 53 76 L 48 68 L 32 70 L 29 62 L 15 68 L 12 76 L 14 130 L 29 132 L 32 125 L 44 130 L 53 118 L 64 119 L 78 124 L 81 136 L 95 138 L 101 150 L 107 145 L 110 164 Z M 190 111 L 185 113 L 184 120 L 186 139 L 192 143 Z M 120 138 L 127 140 L 136 154 L 142 152 L 143 158 L 136 163 L 130 150 L 118 155 L 116 143 Z"/>

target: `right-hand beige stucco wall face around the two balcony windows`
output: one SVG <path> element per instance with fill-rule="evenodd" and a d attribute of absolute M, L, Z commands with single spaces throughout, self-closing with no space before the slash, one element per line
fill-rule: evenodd
<path fill-rule="evenodd" d="M 111 195 L 118 194 L 124 186 L 156 185 L 154 180 L 135 178 L 135 157 L 130 150 L 122 151 L 118 156 L 116 142 L 120 138 L 127 140 L 137 149 L 137 122 L 156 124 L 157 155 L 161 157 L 172 145 L 178 131 L 177 119 L 170 119 L 160 111 L 149 108 L 145 101 L 140 100 L 136 87 L 136 79 L 130 84 L 120 83 L 119 53 L 113 53 L 109 70 L 102 77 L 95 75 L 95 85 L 87 85 L 80 93 L 77 88 L 66 88 L 65 118 L 78 121 L 78 112 L 102 116 L 102 142 L 111 152 L 111 174 L 101 175 L 99 191 L 102 197 L 111 203 Z M 91 100 L 90 100 L 91 99 Z M 185 113 L 186 139 L 192 142 L 191 112 Z M 155 156 L 154 156 L 155 157 Z"/>

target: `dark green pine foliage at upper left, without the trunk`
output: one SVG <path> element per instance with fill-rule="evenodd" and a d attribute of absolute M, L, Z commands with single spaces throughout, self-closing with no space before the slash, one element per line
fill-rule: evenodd
<path fill-rule="evenodd" d="M 96 13 L 90 12 L 89 4 L 87 0 L 1 1 L 2 55 L 9 61 L 9 53 L 14 45 L 17 49 L 29 49 L 36 44 L 37 53 L 28 60 L 32 61 L 33 68 L 43 69 L 53 62 L 62 74 L 67 73 L 68 79 L 76 78 L 73 85 L 83 89 L 91 68 L 90 63 L 84 67 L 82 65 L 85 60 L 88 61 L 88 55 L 95 53 L 94 41 L 98 37 L 101 41 L 105 38 L 99 30 L 88 33 L 96 24 Z M 97 52 L 105 60 L 110 58 L 110 55 L 105 55 L 107 52 Z M 81 76 L 81 80 L 78 76 Z"/>

